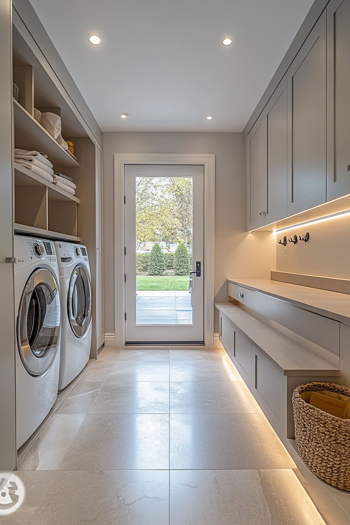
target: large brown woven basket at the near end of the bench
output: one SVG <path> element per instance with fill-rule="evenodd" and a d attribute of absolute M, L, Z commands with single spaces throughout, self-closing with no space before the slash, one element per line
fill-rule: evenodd
<path fill-rule="evenodd" d="M 350 491 L 350 419 L 333 416 L 306 403 L 303 392 L 328 391 L 350 397 L 350 388 L 309 383 L 293 392 L 295 443 L 311 472 L 333 487 Z"/>

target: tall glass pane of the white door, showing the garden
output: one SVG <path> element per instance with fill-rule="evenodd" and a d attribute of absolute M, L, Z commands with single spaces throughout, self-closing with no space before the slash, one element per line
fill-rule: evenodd
<path fill-rule="evenodd" d="M 193 178 L 135 177 L 136 324 L 193 324 Z"/>

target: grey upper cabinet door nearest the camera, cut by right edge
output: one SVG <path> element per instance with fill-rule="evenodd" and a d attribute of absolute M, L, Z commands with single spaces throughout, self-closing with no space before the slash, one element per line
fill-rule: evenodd
<path fill-rule="evenodd" d="M 350 193 L 350 0 L 327 5 L 327 201 Z"/>

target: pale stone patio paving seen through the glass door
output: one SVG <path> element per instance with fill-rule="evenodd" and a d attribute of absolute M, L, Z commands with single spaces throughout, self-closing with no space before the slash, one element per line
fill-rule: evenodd
<path fill-rule="evenodd" d="M 188 291 L 137 291 L 137 324 L 192 324 Z"/>

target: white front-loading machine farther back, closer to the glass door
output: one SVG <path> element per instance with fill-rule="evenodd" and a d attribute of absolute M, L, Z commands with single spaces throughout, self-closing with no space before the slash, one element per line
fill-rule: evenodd
<path fill-rule="evenodd" d="M 59 390 L 82 371 L 90 358 L 91 274 L 86 246 L 55 243 L 61 287 L 61 361 Z"/>

